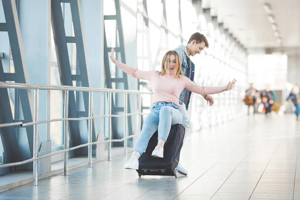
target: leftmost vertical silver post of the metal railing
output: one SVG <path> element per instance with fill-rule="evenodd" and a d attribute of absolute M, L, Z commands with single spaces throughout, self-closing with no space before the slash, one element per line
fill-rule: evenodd
<path fill-rule="evenodd" d="M 34 89 L 33 121 L 38 119 L 38 89 Z M 38 129 L 37 124 L 33 125 L 33 157 L 37 157 L 38 151 Z M 37 185 L 38 160 L 33 160 L 33 185 Z"/>

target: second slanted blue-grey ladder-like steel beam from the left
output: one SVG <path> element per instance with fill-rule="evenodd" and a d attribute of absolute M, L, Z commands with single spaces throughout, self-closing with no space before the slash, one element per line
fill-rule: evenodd
<path fill-rule="evenodd" d="M 69 1 L 70 13 L 72 17 L 72 24 L 74 29 L 74 36 L 66 36 L 64 29 L 64 19 L 61 10 L 59 0 L 51 0 L 52 6 L 52 26 L 55 38 L 56 55 L 59 66 L 59 74 L 61 82 L 64 85 L 73 85 L 72 81 L 76 80 L 76 85 L 89 87 L 88 77 L 88 65 L 86 61 L 85 43 L 82 32 L 82 20 L 81 20 L 81 8 L 79 0 Z M 70 61 L 68 56 L 67 43 L 76 44 L 76 57 L 77 57 L 77 74 L 71 74 Z M 76 99 L 76 100 L 75 100 Z M 81 117 L 88 116 L 88 93 L 87 92 L 76 92 L 76 98 L 74 92 L 69 93 L 69 116 L 70 117 Z M 71 142 L 72 145 L 78 145 L 87 142 L 87 134 L 82 122 L 71 121 Z M 92 125 L 92 141 L 95 141 L 95 125 Z M 87 147 L 80 148 L 77 150 L 78 154 L 86 154 Z"/>

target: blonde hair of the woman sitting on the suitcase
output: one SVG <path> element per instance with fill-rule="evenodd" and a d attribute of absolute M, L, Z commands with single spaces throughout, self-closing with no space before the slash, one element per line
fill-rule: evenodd
<path fill-rule="evenodd" d="M 179 54 L 175 50 L 169 50 L 164 54 L 164 56 L 162 58 L 162 62 L 161 62 L 160 74 L 161 75 L 167 74 L 167 72 L 165 71 L 164 68 L 166 68 L 167 71 L 169 70 L 169 61 L 168 61 L 168 59 L 169 59 L 170 55 L 175 55 L 176 68 L 174 68 L 175 69 L 175 75 L 174 76 L 175 76 L 175 78 L 178 78 L 179 75 L 183 75 L 183 73 L 182 73 L 181 61 L 180 61 L 180 58 L 179 58 Z"/>

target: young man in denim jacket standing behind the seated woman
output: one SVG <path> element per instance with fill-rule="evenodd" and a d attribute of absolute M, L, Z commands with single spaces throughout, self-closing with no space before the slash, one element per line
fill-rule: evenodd
<path fill-rule="evenodd" d="M 181 67 L 183 74 L 188 77 L 191 81 L 193 81 L 194 78 L 194 63 L 190 60 L 189 56 L 194 56 L 197 53 L 201 53 L 201 51 L 208 47 L 208 41 L 206 37 L 203 34 L 200 34 L 199 32 L 193 33 L 187 44 L 180 45 L 174 50 L 178 52 L 180 59 L 181 59 Z M 180 96 L 179 96 L 179 103 L 180 103 L 180 110 L 182 113 L 182 125 L 185 127 L 185 136 L 189 135 L 189 133 L 192 131 L 192 123 L 190 121 L 190 118 L 187 113 L 188 104 L 190 100 L 191 91 L 187 89 L 183 89 Z M 204 95 L 203 96 L 205 100 L 207 100 L 207 104 L 211 106 L 213 104 L 213 98 L 210 95 Z M 187 170 L 183 168 L 183 166 L 178 163 L 177 170 L 179 173 L 183 175 L 187 175 Z"/>

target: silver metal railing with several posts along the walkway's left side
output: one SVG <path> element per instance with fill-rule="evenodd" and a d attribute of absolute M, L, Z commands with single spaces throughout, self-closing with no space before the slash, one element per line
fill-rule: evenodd
<path fill-rule="evenodd" d="M 2 123 L 0 124 L 0 128 L 7 127 L 7 126 L 29 126 L 33 125 L 33 157 L 30 159 L 26 159 L 19 162 L 12 162 L 12 163 L 5 163 L 0 164 L 0 168 L 2 167 L 8 167 L 8 166 L 16 166 L 25 164 L 28 162 L 33 161 L 33 185 L 37 185 L 37 176 L 38 176 L 38 159 L 48 157 L 51 155 L 55 155 L 58 153 L 64 153 L 63 154 L 63 160 L 64 160 L 64 175 L 68 174 L 68 151 L 74 150 L 77 148 L 81 148 L 84 146 L 88 146 L 88 167 L 91 167 L 91 158 L 92 158 L 92 144 L 98 144 L 98 143 L 108 143 L 108 160 L 111 160 L 111 142 L 120 142 L 124 141 L 124 155 L 127 155 L 127 139 L 137 136 L 138 134 L 132 134 L 130 136 L 127 136 L 127 116 L 131 115 L 137 115 L 137 129 L 140 131 L 140 122 L 141 122 L 141 115 L 145 114 L 140 112 L 141 110 L 141 100 L 140 96 L 143 94 L 149 94 L 152 99 L 151 92 L 142 92 L 138 90 L 122 90 L 122 89 L 108 89 L 108 88 L 91 88 L 91 87 L 75 87 L 75 86 L 65 86 L 65 85 L 33 85 L 33 84 L 24 84 L 24 83 L 7 83 L 7 82 L 0 82 L 0 88 L 14 88 L 14 89 L 34 89 L 34 107 L 33 107 L 33 121 L 28 123 L 22 123 L 22 122 L 12 122 L 12 123 Z M 38 121 L 38 93 L 39 90 L 61 90 L 64 91 L 64 104 L 63 104 L 63 118 L 56 118 L 56 119 L 48 119 L 48 120 L 41 120 Z M 88 95 L 88 117 L 82 117 L 82 118 L 68 118 L 68 93 L 69 91 L 86 91 L 89 93 Z M 92 93 L 93 92 L 107 92 L 107 101 L 108 101 L 108 114 L 104 115 L 98 115 L 93 116 L 92 115 Z M 124 93 L 124 114 L 111 114 L 111 95 L 112 93 Z M 137 112 L 134 113 L 127 113 L 127 97 L 128 94 L 137 94 Z M 103 105 L 103 104 L 102 104 Z M 150 105 L 151 106 L 151 103 Z M 150 107 L 149 107 L 150 108 Z M 103 109 L 103 107 L 101 107 Z M 101 118 L 101 117 L 108 117 L 109 120 L 109 128 L 108 128 L 108 140 L 103 141 L 94 141 L 92 142 L 92 119 L 94 118 Z M 112 133 L 112 127 L 111 127 L 111 118 L 112 117 L 124 117 L 124 136 L 121 139 L 111 139 L 111 133 Z M 68 147 L 68 121 L 70 120 L 88 120 L 88 142 L 84 144 L 80 144 L 73 147 Z M 38 124 L 40 123 L 47 123 L 47 122 L 53 122 L 53 121 L 63 121 L 63 141 L 64 141 L 64 148 L 62 150 L 57 150 L 51 153 L 47 153 L 41 156 L 38 156 Z M 101 124 L 104 125 L 104 124 Z"/>

